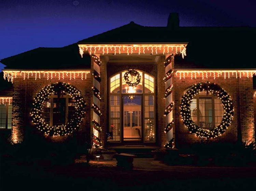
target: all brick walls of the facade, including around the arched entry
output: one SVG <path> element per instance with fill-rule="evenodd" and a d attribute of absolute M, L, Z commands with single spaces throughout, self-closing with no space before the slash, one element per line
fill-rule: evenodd
<path fill-rule="evenodd" d="M 100 135 L 102 145 L 105 146 L 106 132 L 108 131 L 108 79 L 110 76 L 114 75 L 119 71 L 134 68 L 137 70 L 145 71 L 156 77 L 156 130 L 157 130 L 157 142 L 156 145 L 162 147 L 166 143 L 166 136 L 164 133 L 165 128 L 165 118 L 163 117 L 163 112 L 165 110 L 165 100 L 163 99 L 165 93 L 165 84 L 163 82 L 163 77 L 165 75 L 165 68 L 163 65 L 164 56 L 160 56 L 158 63 L 156 64 L 118 64 L 118 63 L 108 63 L 105 57 L 101 56 L 101 125 L 102 133 Z M 90 76 L 90 77 L 89 77 Z M 93 92 L 92 87 L 92 77 L 91 74 L 87 75 L 86 80 L 81 80 L 77 78 L 76 80 L 58 80 L 58 78 L 53 78 L 52 80 L 42 79 L 25 79 L 17 77 L 14 80 L 13 88 L 13 115 L 12 115 L 12 139 L 14 142 L 20 142 L 24 139 L 24 128 L 30 128 L 31 118 L 29 112 L 31 110 L 32 100 L 35 95 L 46 85 L 55 82 L 66 82 L 82 92 L 84 100 L 87 103 L 87 112 L 85 116 L 84 123 L 81 125 L 80 131 L 88 128 L 90 126 L 91 117 L 91 101 Z M 180 79 L 179 76 L 174 74 L 173 76 L 173 100 L 174 105 L 174 119 L 175 126 L 173 131 L 173 137 L 175 138 L 176 146 L 179 148 L 185 144 L 191 144 L 200 139 L 196 136 L 190 134 L 188 130 L 184 127 L 181 116 L 180 116 L 180 104 L 181 97 L 184 91 L 191 85 L 199 82 L 214 82 L 224 88 L 233 100 L 234 105 L 234 118 L 231 126 L 228 127 L 227 131 L 220 137 L 214 139 L 213 141 L 227 141 L 236 142 L 250 141 L 255 137 L 255 127 L 254 127 L 254 116 L 256 101 L 253 99 L 253 82 L 252 78 L 249 77 L 230 77 L 224 79 L 224 77 L 217 77 L 215 80 L 213 77 L 208 77 L 208 79 L 202 79 L 197 77 L 197 79 L 191 79 L 190 77 L 185 77 L 185 79 Z"/>

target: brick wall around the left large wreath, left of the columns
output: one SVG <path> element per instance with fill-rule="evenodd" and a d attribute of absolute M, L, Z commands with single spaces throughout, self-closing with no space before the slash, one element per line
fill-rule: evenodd
<path fill-rule="evenodd" d="M 84 121 L 81 125 L 79 131 L 85 131 L 85 128 L 90 127 L 90 107 L 91 107 L 91 97 L 92 97 L 92 77 L 91 74 L 87 75 L 87 79 L 82 80 L 77 78 L 75 80 L 59 80 L 58 78 L 53 78 L 52 80 L 47 80 L 45 78 L 41 79 L 14 79 L 13 87 L 13 111 L 12 111 L 12 140 L 14 142 L 20 142 L 24 139 L 24 128 L 31 128 L 31 117 L 29 115 L 31 111 L 32 101 L 35 95 L 46 85 L 65 82 L 73 85 L 79 91 L 81 91 L 84 100 L 87 104 L 86 114 Z"/>

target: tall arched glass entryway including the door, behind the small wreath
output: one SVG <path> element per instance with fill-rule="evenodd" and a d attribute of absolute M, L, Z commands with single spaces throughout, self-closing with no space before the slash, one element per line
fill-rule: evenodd
<path fill-rule="evenodd" d="M 155 78 L 138 71 L 141 81 L 132 88 L 125 72 L 109 79 L 108 141 L 155 142 Z"/>

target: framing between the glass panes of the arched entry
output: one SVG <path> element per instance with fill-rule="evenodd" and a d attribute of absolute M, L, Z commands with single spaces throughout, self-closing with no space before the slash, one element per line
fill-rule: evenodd
<path fill-rule="evenodd" d="M 115 119 L 115 120 L 119 120 L 119 125 L 120 125 L 120 136 L 119 136 L 119 140 L 113 140 L 113 141 L 107 141 L 109 143 L 123 143 L 123 142 L 127 142 L 127 141 L 124 141 L 123 140 L 123 101 L 122 101 L 122 96 L 123 95 L 141 95 L 142 96 L 142 110 L 141 110 L 141 126 L 143 127 L 143 132 L 142 132 L 142 135 L 143 135 L 143 143 L 156 143 L 157 142 L 157 136 L 156 136 L 156 132 L 157 132 L 157 125 L 156 125 L 156 77 L 147 73 L 147 72 L 144 72 L 142 70 L 138 70 L 139 72 L 141 72 L 142 74 L 142 92 L 136 92 L 136 93 L 123 93 L 123 89 L 122 89 L 122 86 L 123 86 L 123 72 L 124 71 L 127 71 L 127 70 L 122 70 L 122 71 L 119 71 L 113 75 L 111 75 L 109 78 L 108 78 L 108 94 L 109 94 L 109 103 L 108 103 L 108 110 L 109 110 L 109 117 L 108 117 L 108 129 L 107 131 L 109 132 L 109 128 L 111 126 L 111 119 Z M 111 92 L 111 78 L 116 76 L 117 74 L 119 74 L 119 92 Z M 149 75 L 150 77 L 153 78 L 154 80 L 154 92 L 152 93 L 145 93 L 145 74 Z M 111 102 L 111 95 L 113 96 L 118 96 L 119 97 L 119 100 L 120 100 L 120 105 L 119 105 L 119 119 L 118 118 L 111 118 L 111 106 L 110 106 L 110 102 Z M 147 119 L 151 119 L 150 116 L 148 116 L 148 118 L 145 118 L 145 96 L 150 96 L 152 95 L 153 96 L 153 123 L 154 123 L 154 134 L 155 134 L 155 138 L 154 138 L 154 141 L 145 141 L 145 120 Z M 150 115 L 150 114 L 149 114 Z M 132 141 L 129 141 L 129 142 L 132 142 Z"/>

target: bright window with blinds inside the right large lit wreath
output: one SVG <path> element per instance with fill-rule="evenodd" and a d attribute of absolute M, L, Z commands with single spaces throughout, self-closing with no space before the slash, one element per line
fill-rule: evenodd
<path fill-rule="evenodd" d="M 218 126 L 224 114 L 221 100 L 201 91 L 190 103 L 191 119 L 200 128 L 211 129 Z"/>

